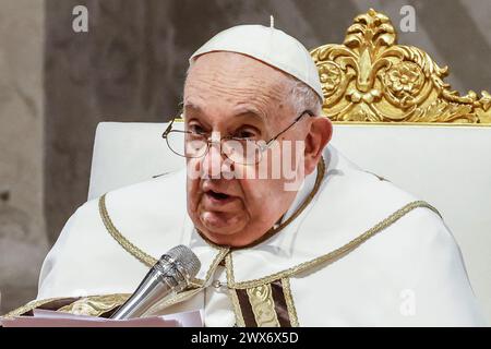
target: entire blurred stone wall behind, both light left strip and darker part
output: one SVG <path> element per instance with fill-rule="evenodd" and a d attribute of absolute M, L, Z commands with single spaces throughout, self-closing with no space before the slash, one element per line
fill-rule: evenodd
<path fill-rule="evenodd" d="M 72 31 L 85 4 L 89 32 Z M 451 68 L 453 87 L 491 89 L 489 0 L 0 0 L 0 313 L 35 297 L 40 263 L 87 194 L 99 121 L 163 121 L 177 110 L 187 58 L 229 26 L 268 24 L 309 49 L 342 43 L 370 7 L 399 43 Z M 46 228 L 45 228 L 46 227 Z"/>

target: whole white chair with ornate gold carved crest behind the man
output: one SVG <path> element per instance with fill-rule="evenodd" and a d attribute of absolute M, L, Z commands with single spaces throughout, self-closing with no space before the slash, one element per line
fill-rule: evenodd
<path fill-rule="evenodd" d="M 443 80 L 447 69 L 420 48 L 398 45 L 390 19 L 373 10 L 355 19 L 342 45 L 311 53 L 334 146 L 439 208 L 491 321 L 490 94 L 453 92 Z M 100 123 L 89 198 L 184 166 L 161 142 L 164 129 Z"/>

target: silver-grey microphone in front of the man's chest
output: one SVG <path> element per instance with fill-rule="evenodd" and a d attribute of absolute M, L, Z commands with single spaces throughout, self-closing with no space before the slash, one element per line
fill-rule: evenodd
<path fill-rule="evenodd" d="M 110 318 L 142 316 L 152 305 L 182 291 L 200 270 L 201 262 L 191 249 L 180 244 L 170 249 L 149 269 L 134 293 Z"/>

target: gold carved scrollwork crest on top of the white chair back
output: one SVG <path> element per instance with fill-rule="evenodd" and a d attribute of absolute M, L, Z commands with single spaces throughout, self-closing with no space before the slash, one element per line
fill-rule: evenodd
<path fill-rule="evenodd" d="M 311 51 L 333 121 L 491 123 L 491 95 L 465 96 L 443 81 L 423 50 L 397 45 L 390 19 L 374 10 L 358 15 L 343 45 Z"/>

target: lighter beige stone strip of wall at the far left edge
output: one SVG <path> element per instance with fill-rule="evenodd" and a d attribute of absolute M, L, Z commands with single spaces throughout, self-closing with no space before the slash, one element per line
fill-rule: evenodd
<path fill-rule="evenodd" d="M 36 297 L 44 219 L 44 3 L 0 1 L 0 314 Z"/>

